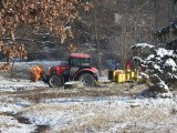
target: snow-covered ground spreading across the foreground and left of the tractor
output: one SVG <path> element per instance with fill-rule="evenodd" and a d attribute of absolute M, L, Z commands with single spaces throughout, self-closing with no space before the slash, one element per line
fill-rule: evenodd
<path fill-rule="evenodd" d="M 48 84 L 40 81 L 0 76 L 0 133 L 177 132 L 175 94 L 171 99 L 86 94 L 58 98 L 61 90 L 45 89 L 43 93 L 53 92 L 53 96 L 38 99 L 43 88 Z M 32 96 L 38 102 L 30 100 L 28 91 L 37 93 Z"/>

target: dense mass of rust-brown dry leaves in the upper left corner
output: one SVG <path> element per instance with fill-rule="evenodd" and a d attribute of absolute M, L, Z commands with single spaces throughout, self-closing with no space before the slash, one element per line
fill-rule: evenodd
<path fill-rule="evenodd" d="M 48 28 L 63 42 L 72 37 L 71 23 L 81 20 L 80 11 L 92 4 L 84 0 L 1 0 L 0 37 L 9 32 L 14 39 L 19 24 L 30 24 L 35 30 Z"/>

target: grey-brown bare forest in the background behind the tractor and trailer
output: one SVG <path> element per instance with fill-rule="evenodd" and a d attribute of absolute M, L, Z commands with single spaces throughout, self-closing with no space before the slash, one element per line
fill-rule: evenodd
<path fill-rule="evenodd" d="M 173 0 L 91 0 L 94 8 L 82 13 L 82 22 L 72 24 L 74 39 L 63 44 L 45 28 L 32 32 L 31 27 L 19 27 L 14 42 L 25 43 L 28 60 L 64 60 L 70 44 L 75 52 L 91 53 L 93 63 L 101 69 L 112 69 L 115 62 L 121 68 L 132 59 L 131 47 L 150 43 L 164 47 L 173 34 L 156 38 L 156 31 L 176 20 L 177 7 Z M 4 42 L 11 43 L 3 35 Z M 14 43 L 13 42 L 13 43 Z"/>

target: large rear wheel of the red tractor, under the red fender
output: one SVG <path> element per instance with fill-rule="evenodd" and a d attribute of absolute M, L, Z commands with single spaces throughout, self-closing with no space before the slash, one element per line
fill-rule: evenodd
<path fill-rule="evenodd" d="M 81 74 L 79 81 L 83 82 L 85 86 L 93 86 L 95 84 L 95 79 L 90 73 Z"/>

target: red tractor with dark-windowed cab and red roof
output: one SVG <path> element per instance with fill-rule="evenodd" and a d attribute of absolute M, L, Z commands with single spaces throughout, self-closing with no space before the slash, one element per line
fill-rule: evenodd
<path fill-rule="evenodd" d="M 51 88 L 62 86 L 69 81 L 82 81 L 85 86 L 93 86 L 98 79 L 98 71 L 91 65 L 91 55 L 72 53 L 67 63 L 52 66 L 49 73 Z"/>

